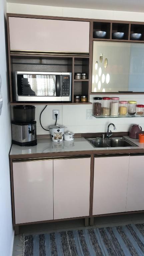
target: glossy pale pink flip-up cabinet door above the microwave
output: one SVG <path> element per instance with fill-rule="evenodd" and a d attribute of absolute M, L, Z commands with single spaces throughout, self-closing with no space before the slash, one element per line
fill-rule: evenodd
<path fill-rule="evenodd" d="M 90 22 L 9 17 L 10 50 L 89 53 Z"/>

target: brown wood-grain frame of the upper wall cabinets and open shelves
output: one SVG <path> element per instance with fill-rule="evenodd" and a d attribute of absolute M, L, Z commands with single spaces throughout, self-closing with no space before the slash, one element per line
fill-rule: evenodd
<path fill-rule="evenodd" d="M 55 20 L 73 20 L 73 21 L 89 21 L 90 22 L 90 44 L 89 44 L 89 56 L 84 55 L 56 55 L 56 54 L 34 54 L 34 53 L 10 53 L 10 39 L 9 39 L 9 20 L 8 17 L 24 17 L 24 18 L 38 18 L 38 19 L 55 19 Z M 98 25 L 98 26 L 97 26 Z M 119 26 L 125 27 L 125 33 L 126 37 L 125 39 L 118 40 L 118 39 L 112 39 L 112 32 L 117 31 Z M 93 29 L 101 28 L 101 26 L 105 26 L 107 29 L 107 38 L 104 39 L 98 39 L 93 38 Z M 142 38 L 141 40 L 130 40 L 130 34 L 134 32 L 134 30 L 141 31 L 142 32 Z M 99 40 L 99 41 L 113 41 L 113 42 L 133 42 L 133 43 L 144 43 L 144 23 L 143 22 L 132 22 L 132 21 L 118 21 L 118 20 L 100 20 L 100 19 L 83 19 L 83 18 L 72 18 L 72 17 L 56 17 L 56 16 L 42 16 L 42 15 L 28 15 L 28 14 L 12 14 L 7 13 L 7 34 L 8 34 L 8 59 L 9 59 L 9 80 L 10 80 L 10 100 L 11 105 L 29 105 L 30 103 L 19 103 L 14 101 L 14 93 L 13 93 L 13 78 L 12 78 L 12 59 L 13 58 L 24 58 L 24 59 L 35 59 L 38 58 L 40 62 L 43 58 L 49 58 L 49 57 L 56 57 L 59 58 L 72 58 L 71 65 L 72 65 L 72 101 L 69 103 L 49 103 L 49 102 L 33 102 L 33 105 L 63 105 L 63 104 L 92 104 L 89 102 L 90 94 L 95 95 L 99 94 L 98 92 L 94 93 L 91 92 L 91 83 L 92 83 L 92 48 L 93 48 L 93 40 Z M 83 59 L 89 59 L 89 64 L 87 65 L 87 69 L 89 73 L 88 79 L 86 81 L 76 81 L 74 79 L 74 62 L 76 58 L 83 58 Z M 78 84 L 79 83 L 79 84 Z M 75 103 L 74 102 L 74 94 L 77 93 L 77 91 L 74 90 L 75 87 L 80 88 L 80 91 L 82 94 L 87 94 L 88 101 L 87 102 L 80 102 Z M 100 94 L 107 94 L 102 93 Z M 115 94 L 115 93 L 109 93 L 109 94 Z M 123 94 L 143 94 L 142 92 L 134 92 L 134 93 L 123 93 Z"/>

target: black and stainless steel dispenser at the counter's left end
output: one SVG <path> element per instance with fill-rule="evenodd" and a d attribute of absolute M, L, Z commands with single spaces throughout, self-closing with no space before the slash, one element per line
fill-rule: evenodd
<path fill-rule="evenodd" d="M 12 127 L 12 143 L 19 146 L 35 146 L 36 121 L 35 106 L 14 106 Z"/>

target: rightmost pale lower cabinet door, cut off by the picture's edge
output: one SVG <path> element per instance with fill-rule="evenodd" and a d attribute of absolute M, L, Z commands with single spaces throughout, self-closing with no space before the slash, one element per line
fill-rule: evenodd
<path fill-rule="evenodd" d="M 144 210 L 144 156 L 130 156 L 126 211 Z"/>

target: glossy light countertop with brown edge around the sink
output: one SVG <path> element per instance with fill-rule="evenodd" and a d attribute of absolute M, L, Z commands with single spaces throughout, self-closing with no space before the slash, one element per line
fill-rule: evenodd
<path fill-rule="evenodd" d="M 129 141 L 132 141 L 136 147 L 107 147 L 107 148 L 94 148 L 85 138 L 74 138 L 73 141 L 53 142 L 51 139 L 38 139 L 37 145 L 33 147 L 21 147 L 12 144 L 10 157 L 14 155 L 30 155 L 31 154 L 42 154 L 42 153 L 63 153 L 63 152 L 74 152 L 74 151 L 90 151 L 90 153 L 144 153 L 144 143 L 139 143 L 138 139 L 131 139 L 128 136 L 123 136 Z M 118 151 L 118 152 L 116 152 Z"/>

